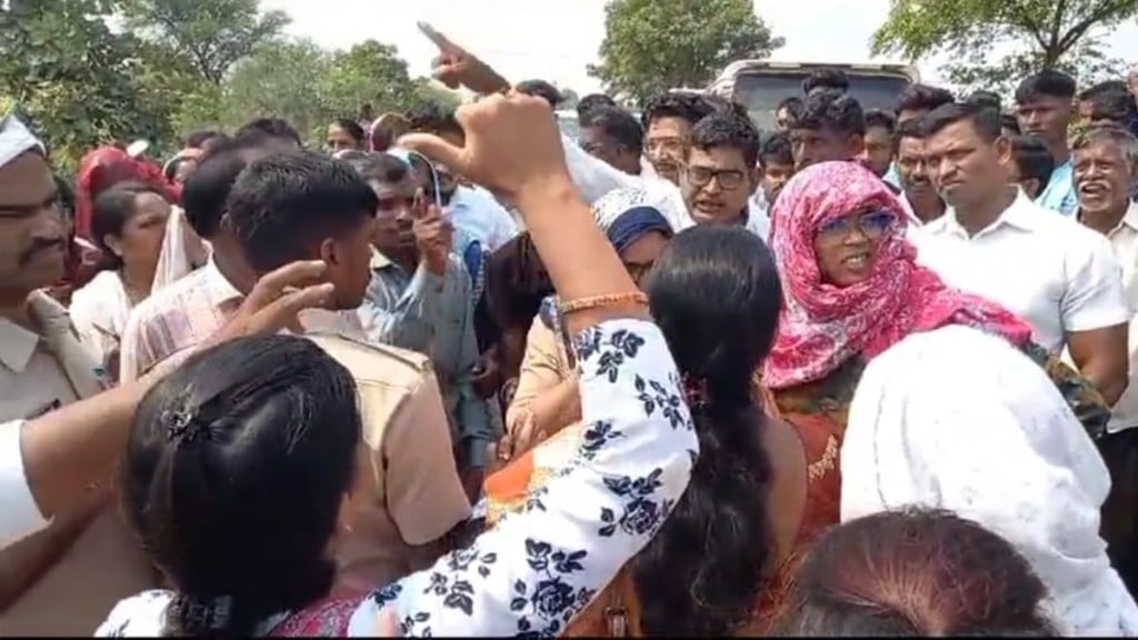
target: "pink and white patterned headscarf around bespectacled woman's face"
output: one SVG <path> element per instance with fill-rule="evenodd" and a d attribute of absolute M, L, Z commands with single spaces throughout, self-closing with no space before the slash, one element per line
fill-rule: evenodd
<path fill-rule="evenodd" d="M 866 207 L 891 211 L 897 220 L 877 244 L 869 277 L 847 287 L 823 281 L 817 230 Z M 768 387 L 823 379 L 855 355 L 872 359 L 914 331 L 946 325 L 981 328 L 1015 345 L 1031 338 L 1031 327 L 1009 311 L 949 288 L 918 265 L 916 248 L 905 239 L 907 224 L 885 183 L 855 163 L 816 164 L 786 183 L 770 216 L 785 304 L 762 370 Z"/>

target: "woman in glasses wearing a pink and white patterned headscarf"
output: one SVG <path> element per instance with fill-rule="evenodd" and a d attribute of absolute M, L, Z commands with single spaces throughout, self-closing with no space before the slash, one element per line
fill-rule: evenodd
<path fill-rule="evenodd" d="M 907 224 L 884 182 L 847 162 L 800 172 L 772 211 L 785 304 L 761 383 L 767 411 L 793 424 L 806 449 L 801 540 L 839 522 L 839 453 L 861 372 L 912 334 L 960 325 L 999 336 L 1046 368 L 1092 436 L 1105 430 L 1098 392 L 1034 346 L 1026 322 L 918 265 Z"/>

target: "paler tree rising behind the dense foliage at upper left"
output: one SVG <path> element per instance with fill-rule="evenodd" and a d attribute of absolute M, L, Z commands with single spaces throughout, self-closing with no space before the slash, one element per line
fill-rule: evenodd
<path fill-rule="evenodd" d="M 122 0 L 122 13 L 129 27 L 176 51 L 215 85 L 289 23 L 282 11 L 259 14 L 257 0 Z"/>

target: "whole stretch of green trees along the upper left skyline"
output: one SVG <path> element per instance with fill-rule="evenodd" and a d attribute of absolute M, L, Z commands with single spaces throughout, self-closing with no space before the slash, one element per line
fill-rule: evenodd
<path fill-rule="evenodd" d="M 327 51 L 280 35 L 287 22 L 258 14 L 255 0 L 0 2 L 0 115 L 16 106 L 55 161 L 74 167 L 98 145 L 147 138 L 162 155 L 195 129 L 263 115 L 315 142 L 362 102 L 376 113 L 457 102 L 410 77 L 393 47 Z"/>

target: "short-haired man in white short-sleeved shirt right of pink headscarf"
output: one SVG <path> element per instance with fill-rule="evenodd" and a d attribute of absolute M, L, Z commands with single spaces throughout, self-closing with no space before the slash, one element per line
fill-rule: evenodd
<path fill-rule="evenodd" d="M 1040 346 L 1056 354 L 1066 347 L 1113 404 L 1128 383 L 1133 311 L 1110 243 L 1007 183 L 1011 146 L 995 112 L 945 105 L 926 116 L 924 132 L 930 170 L 951 208 L 922 229 L 918 259 L 953 286 L 1019 313 Z"/>

